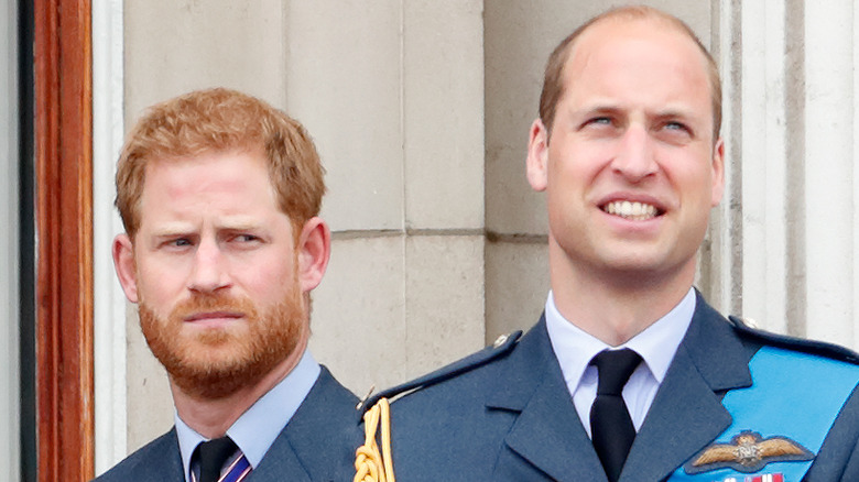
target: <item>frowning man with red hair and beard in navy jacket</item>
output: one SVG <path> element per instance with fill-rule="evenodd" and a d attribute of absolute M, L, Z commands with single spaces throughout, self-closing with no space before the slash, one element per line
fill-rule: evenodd
<path fill-rule="evenodd" d="M 98 480 L 346 480 L 357 398 L 307 350 L 330 234 L 306 131 L 227 89 L 152 107 L 120 154 L 113 262 L 175 427 Z"/>

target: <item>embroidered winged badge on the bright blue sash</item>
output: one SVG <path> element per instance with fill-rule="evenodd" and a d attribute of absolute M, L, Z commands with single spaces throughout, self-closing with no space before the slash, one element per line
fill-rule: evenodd
<path fill-rule="evenodd" d="M 787 437 L 761 438 L 755 431 L 743 430 L 730 443 L 713 443 L 698 452 L 683 469 L 688 474 L 717 469 L 733 469 L 751 473 L 768 463 L 812 460 L 814 453 Z"/>

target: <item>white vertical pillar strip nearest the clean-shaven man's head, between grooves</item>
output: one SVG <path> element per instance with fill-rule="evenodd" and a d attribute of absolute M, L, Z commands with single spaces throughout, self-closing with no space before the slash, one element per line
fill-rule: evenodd
<path fill-rule="evenodd" d="M 742 315 L 785 332 L 783 0 L 742 4 Z"/>

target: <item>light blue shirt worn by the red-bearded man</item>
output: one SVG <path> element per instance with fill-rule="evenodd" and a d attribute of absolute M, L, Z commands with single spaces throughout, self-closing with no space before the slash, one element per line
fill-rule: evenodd
<path fill-rule="evenodd" d="M 298 364 L 227 429 L 227 435 L 239 447 L 251 468 L 255 469 L 260 464 L 269 447 L 311 392 L 320 371 L 311 351 L 305 350 Z M 208 439 L 185 425 L 178 413 L 174 415 L 174 419 L 185 481 L 189 482 L 191 456 L 200 442 Z"/>

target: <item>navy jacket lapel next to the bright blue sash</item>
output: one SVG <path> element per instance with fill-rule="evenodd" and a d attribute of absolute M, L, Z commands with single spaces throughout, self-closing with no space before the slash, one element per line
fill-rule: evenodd
<path fill-rule="evenodd" d="M 752 354 L 698 294 L 689 329 L 635 437 L 621 482 L 663 480 L 718 437 L 731 423 L 721 396 L 751 385 Z"/>

